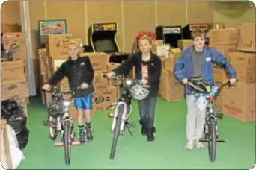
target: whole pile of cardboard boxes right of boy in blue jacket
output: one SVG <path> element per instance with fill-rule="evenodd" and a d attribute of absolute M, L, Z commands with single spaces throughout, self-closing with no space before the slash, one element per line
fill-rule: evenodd
<path fill-rule="evenodd" d="M 239 80 L 236 86 L 222 90 L 216 107 L 226 116 L 242 122 L 254 121 L 255 23 L 243 24 L 241 28 L 211 30 L 210 47 L 227 57 Z M 214 66 L 213 72 L 217 86 L 228 81 L 224 69 Z"/>

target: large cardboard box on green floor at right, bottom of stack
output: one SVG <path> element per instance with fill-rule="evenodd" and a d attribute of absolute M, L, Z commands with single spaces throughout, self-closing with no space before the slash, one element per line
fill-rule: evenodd
<path fill-rule="evenodd" d="M 222 113 L 242 122 L 255 121 L 255 83 L 238 82 L 222 93 Z"/>

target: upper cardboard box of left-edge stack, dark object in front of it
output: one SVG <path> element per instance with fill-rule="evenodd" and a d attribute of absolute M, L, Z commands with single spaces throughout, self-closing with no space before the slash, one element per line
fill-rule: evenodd
<path fill-rule="evenodd" d="M 19 34 L 18 34 L 19 35 Z M 3 45 L 4 49 L 7 51 L 10 50 L 11 45 L 13 45 L 12 54 L 13 54 L 13 60 L 27 60 L 27 45 L 25 41 L 25 37 L 21 37 L 22 34 L 19 35 L 19 37 L 14 37 L 12 34 L 7 35 L 4 34 L 3 36 Z"/>

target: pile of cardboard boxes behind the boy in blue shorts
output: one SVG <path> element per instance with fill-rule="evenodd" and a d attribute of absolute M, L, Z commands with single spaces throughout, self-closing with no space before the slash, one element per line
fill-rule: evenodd
<path fill-rule="evenodd" d="M 73 38 L 72 34 L 51 35 L 46 38 L 46 48 L 38 49 L 41 85 L 46 84 L 52 73 L 68 59 L 67 44 L 70 40 L 82 42 L 81 38 Z M 103 73 L 118 64 L 108 63 L 109 55 L 106 53 L 81 53 L 80 56 L 88 56 L 94 68 L 94 111 L 106 110 L 118 99 L 120 82 L 103 78 Z M 67 78 L 63 78 L 58 84 L 58 88 L 69 89 Z M 42 92 L 43 104 L 49 104 L 51 99 L 50 92 Z M 76 110 L 73 106 L 70 107 L 70 113 L 76 119 Z"/>

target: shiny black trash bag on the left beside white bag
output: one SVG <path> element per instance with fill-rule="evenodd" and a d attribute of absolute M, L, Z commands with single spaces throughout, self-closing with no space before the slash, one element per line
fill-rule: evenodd
<path fill-rule="evenodd" d="M 1 101 L 1 119 L 7 120 L 7 124 L 15 131 L 19 148 L 24 149 L 28 145 L 29 130 L 26 127 L 28 118 L 21 105 L 13 99 Z"/>

